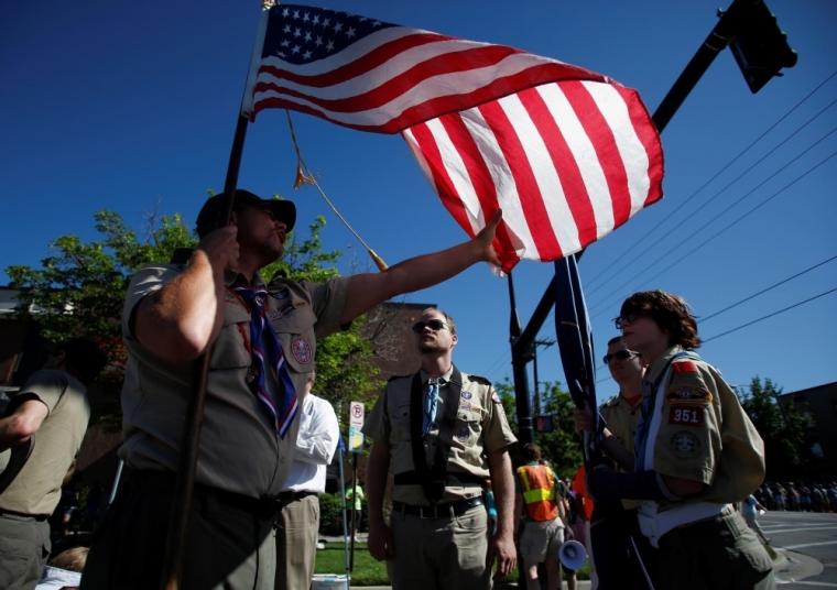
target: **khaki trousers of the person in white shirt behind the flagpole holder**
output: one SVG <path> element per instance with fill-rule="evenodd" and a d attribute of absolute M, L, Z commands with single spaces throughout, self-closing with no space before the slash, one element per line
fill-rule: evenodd
<path fill-rule="evenodd" d="M 306 495 L 282 507 L 276 518 L 275 590 L 308 590 L 319 531 L 319 500 Z"/>

